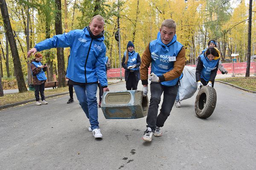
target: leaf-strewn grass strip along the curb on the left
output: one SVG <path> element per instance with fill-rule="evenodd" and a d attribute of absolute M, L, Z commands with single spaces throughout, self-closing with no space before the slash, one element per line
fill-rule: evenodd
<path fill-rule="evenodd" d="M 68 86 L 64 88 L 55 88 L 51 90 L 45 90 L 44 95 L 49 96 L 52 94 L 59 94 L 64 92 L 68 92 Z M 34 91 L 26 91 L 24 93 L 15 93 L 15 94 L 5 94 L 3 97 L 0 97 L 0 106 L 21 102 L 29 99 L 35 99 Z"/>

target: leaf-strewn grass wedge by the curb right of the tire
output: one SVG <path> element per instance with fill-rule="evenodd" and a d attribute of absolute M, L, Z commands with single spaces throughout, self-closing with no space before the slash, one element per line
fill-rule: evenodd
<path fill-rule="evenodd" d="M 222 82 L 227 82 L 240 88 L 245 88 L 247 90 L 256 91 L 256 76 L 250 77 L 229 77 L 225 79 L 215 79 Z"/>

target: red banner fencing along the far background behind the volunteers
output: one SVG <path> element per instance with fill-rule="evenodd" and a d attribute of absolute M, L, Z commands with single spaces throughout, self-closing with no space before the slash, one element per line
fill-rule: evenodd
<path fill-rule="evenodd" d="M 234 63 L 222 63 L 224 68 L 228 71 L 228 74 L 233 74 L 233 67 L 234 67 L 234 74 L 245 74 L 247 62 L 234 62 Z M 194 66 L 195 65 L 189 65 Z M 148 74 L 151 72 L 151 67 L 148 68 Z M 250 62 L 250 73 L 256 73 L 256 62 Z M 217 74 L 221 74 L 218 70 Z M 120 77 L 120 68 L 111 68 L 108 70 L 108 77 Z M 122 77 L 125 77 L 125 69 L 122 68 Z"/>

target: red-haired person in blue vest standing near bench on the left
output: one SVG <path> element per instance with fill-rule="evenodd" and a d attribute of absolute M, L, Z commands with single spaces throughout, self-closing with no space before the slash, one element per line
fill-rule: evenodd
<path fill-rule="evenodd" d="M 48 102 L 45 101 L 45 97 L 44 97 L 44 83 L 47 80 L 44 71 L 47 71 L 48 66 L 47 64 L 43 65 L 41 63 L 42 59 L 43 59 L 42 54 L 38 53 L 38 54 L 35 54 L 35 59 L 32 59 L 32 61 L 30 62 L 31 71 L 33 75 L 33 84 L 35 87 L 36 105 L 48 104 Z M 39 92 L 41 95 L 42 103 L 40 102 Z"/>

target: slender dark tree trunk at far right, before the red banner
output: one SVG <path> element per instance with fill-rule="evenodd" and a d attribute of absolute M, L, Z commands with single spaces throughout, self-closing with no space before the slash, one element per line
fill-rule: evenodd
<path fill-rule="evenodd" d="M 245 77 L 250 77 L 250 56 L 251 56 L 251 39 L 252 39 L 252 4 L 253 0 L 249 1 L 249 23 L 248 23 L 248 47 L 247 47 L 247 66 Z"/>

